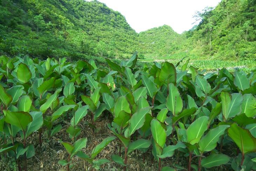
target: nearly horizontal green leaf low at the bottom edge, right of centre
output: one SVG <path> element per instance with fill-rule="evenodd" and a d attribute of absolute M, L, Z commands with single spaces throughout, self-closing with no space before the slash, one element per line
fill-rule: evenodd
<path fill-rule="evenodd" d="M 212 168 L 222 164 L 227 164 L 229 159 L 230 157 L 224 154 L 211 154 L 210 156 L 202 159 L 201 166 L 203 168 Z"/>

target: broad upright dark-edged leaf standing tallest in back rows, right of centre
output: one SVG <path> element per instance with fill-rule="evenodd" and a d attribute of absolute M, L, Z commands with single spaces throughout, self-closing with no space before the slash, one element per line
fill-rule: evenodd
<path fill-rule="evenodd" d="M 159 74 L 159 81 L 167 80 L 167 85 L 170 83 L 176 84 L 176 68 L 169 62 L 164 62 Z"/>

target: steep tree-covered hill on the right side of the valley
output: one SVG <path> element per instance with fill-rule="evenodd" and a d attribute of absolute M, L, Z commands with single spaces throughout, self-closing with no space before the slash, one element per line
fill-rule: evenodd
<path fill-rule="evenodd" d="M 256 1 L 222 0 L 197 17 L 198 26 L 183 33 L 181 51 L 222 59 L 256 59 Z"/>

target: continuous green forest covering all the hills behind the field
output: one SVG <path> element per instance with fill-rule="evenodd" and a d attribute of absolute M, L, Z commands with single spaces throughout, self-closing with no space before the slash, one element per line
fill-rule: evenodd
<path fill-rule="evenodd" d="M 138 34 L 96 0 L 0 0 L 0 55 L 255 59 L 255 10 L 255 0 L 222 0 L 198 12 L 201 22 L 182 34 L 167 25 Z"/>

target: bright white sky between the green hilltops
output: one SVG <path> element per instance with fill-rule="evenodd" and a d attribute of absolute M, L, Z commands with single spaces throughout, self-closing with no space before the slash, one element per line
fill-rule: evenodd
<path fill-rule="evenodd" d="M 193 15 L 204 7 L 215 7 L 221 0 L 98 0 L 119 11 L 137 32 L 171 26 L 177 33 L 193 27 Z"/>

